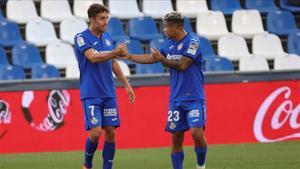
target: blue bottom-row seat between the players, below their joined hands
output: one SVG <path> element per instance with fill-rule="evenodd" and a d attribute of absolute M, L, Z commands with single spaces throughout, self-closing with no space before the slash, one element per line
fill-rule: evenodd
<path fill-rule="evenodd" d="M 164 67 L 161 63 L 154 64 L 136 64 L 136 74 L 155 74 L 164 73 Z"/>

